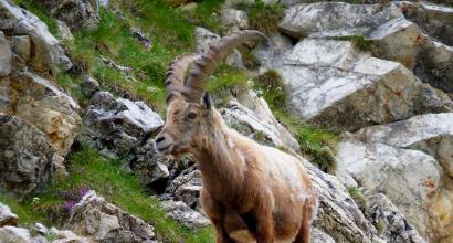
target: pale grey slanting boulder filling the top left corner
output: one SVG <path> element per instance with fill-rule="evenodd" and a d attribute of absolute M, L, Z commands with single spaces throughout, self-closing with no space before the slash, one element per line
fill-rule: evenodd
<path fill-rule="evenodd" d="M 49 32 L 48 27 L 33 13 L 13 6 L 10 1 L 0 0 L 0 31 L 7 35 L 28 35 L 33 53 L 27 63 L 35 71 L 48 72 L 60 66 L 72 67 L 59 41 Z"/>

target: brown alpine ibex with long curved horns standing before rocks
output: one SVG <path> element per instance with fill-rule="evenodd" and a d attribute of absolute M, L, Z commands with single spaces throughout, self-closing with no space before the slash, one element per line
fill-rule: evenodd
<path fill-rule="evenodd" d="M 211 106 L 204 84 L 241 43 L 266 39 L 257 31 L 222 38 L 203 55 L 176 59 L 166 74 L 167 122 L 157 149 L 192 154 L 201 170 L 201 203 L 217 242 L 309 242 L 317 198 L 302 162 L 230 129 Z M 185 82 L 186 71 L 194 63 Z"/>

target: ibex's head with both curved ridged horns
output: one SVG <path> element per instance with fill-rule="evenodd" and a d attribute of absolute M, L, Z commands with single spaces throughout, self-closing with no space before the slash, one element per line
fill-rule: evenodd
<path fill-rule="evenodd" d="M 231 50 L 254 39 L 266 40 L 259 31 L 240 31 L 222 38 L 201 56 L 188 54 L 170 63 L 165 81 L 167 122 L 156 137 L 160 152 L 180 157 L 194 149 L 197 142 L 206 140 L 213 120 L 211 101 L 204 91 L 204 84 Z M 194 63 L 194 68 L 185 78 L 191 63 Z"/>

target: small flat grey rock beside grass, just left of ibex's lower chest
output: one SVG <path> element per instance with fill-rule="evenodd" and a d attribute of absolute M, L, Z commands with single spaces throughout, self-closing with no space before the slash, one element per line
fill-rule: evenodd
<path fill-rule="evenodd" d="M 164 201 L 168 218 L 178 221 L 190 229 L 208 226 L 210 221 L 181 201 Z"/>

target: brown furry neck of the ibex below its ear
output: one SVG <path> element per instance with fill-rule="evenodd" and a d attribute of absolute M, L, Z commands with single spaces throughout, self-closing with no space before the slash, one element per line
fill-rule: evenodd
<path fill-rule="evenodd" d="M 234 138 L 219 113 L 206 142 L 193 152 L 199 162 L 203 184 L 209 191 L 236 188 L 243 183 L 244 156 L 234 147 Z"/>

